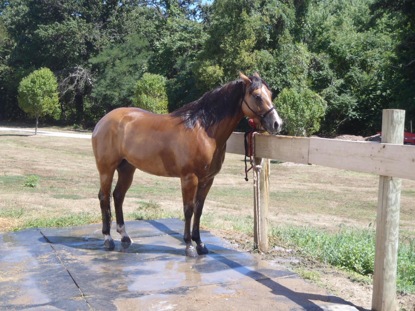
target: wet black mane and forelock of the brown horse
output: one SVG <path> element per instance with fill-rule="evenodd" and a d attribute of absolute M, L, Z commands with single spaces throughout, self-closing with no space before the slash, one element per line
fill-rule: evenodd
<path fill-rule="evenodd" d="M 254 75 L 249 78 L 252 81 L 248 90 L 249 94 L 263 84 L 269 89 L 269 86 L 261 78 Z M 197 121 L 200 120 L 201 126 L 209 129 L 226 117 L 237 114 L 242 95 L 245 92 L 242 89 L 243 85 L 242 79 L 238 79 L 217 87 L 203 94 L 198 100 L 173 111 L 171 115 L 174 118 L 182 118 L 181 123 L 184 123 L 187 128 L 194 128 Z"/>

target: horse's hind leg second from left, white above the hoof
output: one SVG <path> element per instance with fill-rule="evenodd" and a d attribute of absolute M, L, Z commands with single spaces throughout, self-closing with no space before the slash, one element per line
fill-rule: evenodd
<path fill-rule="evenodd" d="M 122 214 L 122 203 L 124 202 L 125 194 L 131 186 L 134 177 L 135 167 L 122 160 L 117 167 L 118 181 L 115 186 L 112 196 L 114 198 L 115 215 L 117 216 L 117 232 L 121 234 L 121 242 L 132 243 L 131 238 L 125 231 L 124 216 Z"/>

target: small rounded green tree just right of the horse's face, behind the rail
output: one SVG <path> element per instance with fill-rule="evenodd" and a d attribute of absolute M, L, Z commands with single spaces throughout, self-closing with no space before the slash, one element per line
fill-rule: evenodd
<path fill-rule="evenodd" d="M 274 104 L 284 120 L 284 130 L 291 136 L 308 136 L 318 131 L 327 109 L 325 100 L 309 89 L 298 93 L 285 88 Z"/>

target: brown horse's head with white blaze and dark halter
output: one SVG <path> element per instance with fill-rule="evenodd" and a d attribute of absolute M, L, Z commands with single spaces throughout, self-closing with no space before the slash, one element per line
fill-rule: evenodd
<path fill-rule="evenodd" d="M 242 112 L 271 134 L 281 131 L 281 120 L 271 100 L 271 90 L 258 73 L 247 77 L 239 72 L 245 85 L 242 93 Z"/>

